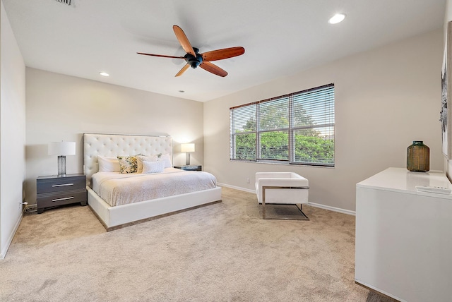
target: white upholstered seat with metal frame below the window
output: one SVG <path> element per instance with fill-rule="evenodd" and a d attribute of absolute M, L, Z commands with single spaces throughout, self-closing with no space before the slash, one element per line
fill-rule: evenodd
<path fill-rule="evenodd" d="M 300 205 L 301 220 L 309 220 L 302 212 L 302 204 L 308 203 L 309 181 L 293 172 L 257 172 L 256 195 L 262 204 L 263 219 L 293 219 L 266 217 L 266 204 Z"/>

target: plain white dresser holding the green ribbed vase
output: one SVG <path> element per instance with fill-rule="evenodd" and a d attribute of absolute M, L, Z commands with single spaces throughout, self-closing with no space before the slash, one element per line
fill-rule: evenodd
<path fill-rule="evenodd" d="M 389 168 L 356 185 L 355 282 L 399 301 L 452 301 L 452 188 L 443 172 Z"/>

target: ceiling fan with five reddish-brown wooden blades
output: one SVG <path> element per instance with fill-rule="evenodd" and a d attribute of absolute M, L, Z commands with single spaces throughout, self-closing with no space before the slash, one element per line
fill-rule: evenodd
<path fill-rule="evenodd" d="M 205 71 L 225 77 L 227 72 L 215 64 L 210 63 L 210 61 L 229 59 L 233 56 L 240 56 L 245 52 L 243 47 L 230 47 L 200 54 L 199 49 L 191 47 L 189 39 L 186 37 L 182 28 L 179 28 L 177 25 L 173 25 L 172 29 L 174 30 L 174 34 L 176 34 L 177 40 L 179 40 L 179 43 L 186 52 L 185 56 L 165 56 L 164 54 L 144 54 L 143 52 L 137 52 L 137 54 L 144 54 L 145 56 L 161 56 L 163 58 L 185 59 L 186 64 L 175 76 L 182 75 L 182 73 L 184 73 L 190 66 L 191 68 L 199 66 Z"/>

